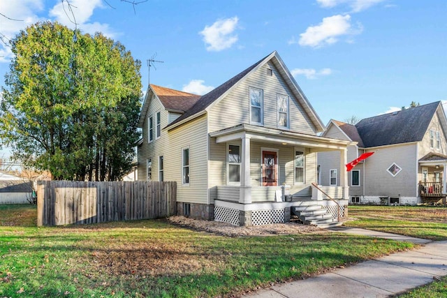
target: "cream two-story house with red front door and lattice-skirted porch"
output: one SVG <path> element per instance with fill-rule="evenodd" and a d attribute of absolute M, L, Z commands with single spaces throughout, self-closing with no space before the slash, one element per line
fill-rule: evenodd
<path fill-rule="evenodd" d="M 324 126 L 277 52 L 204 96 L 150 85 L 139 127 L 138 179 L 177 181 L 179 215 L 235 225 L 288 221 L 305 205 L 333 212 L 311 187 L 316 153 L 347 162 L 355 144 L 316 135 Z M 343 208 L 339 174 L 324 190 Z"/>

